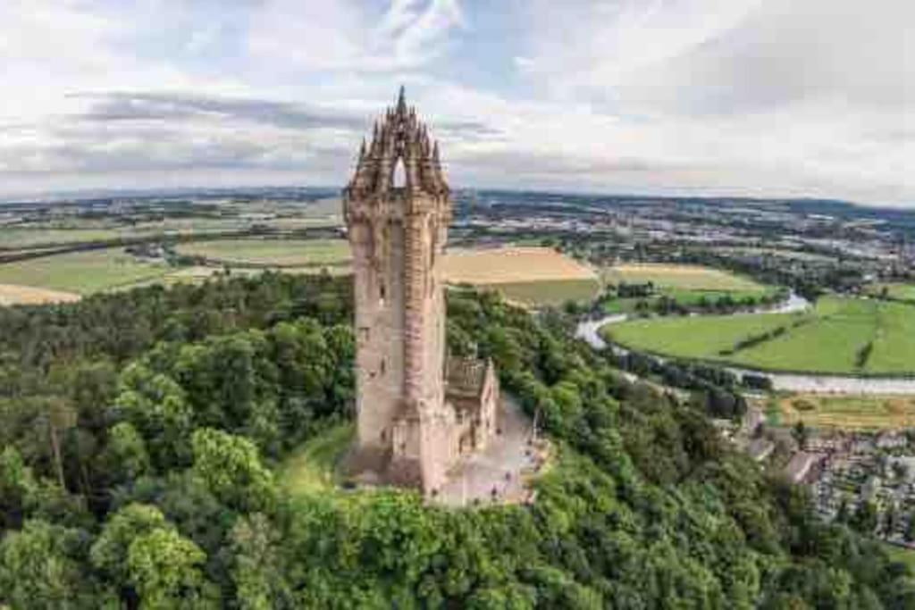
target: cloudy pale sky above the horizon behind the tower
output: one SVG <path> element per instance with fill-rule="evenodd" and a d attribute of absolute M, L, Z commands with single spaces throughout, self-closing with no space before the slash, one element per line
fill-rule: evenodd
<path fill-rule="evenodd" d="M 915 207 L 911 0 L 2 0 L 0 194 L 342 185 L 404 83 L 453 185 Z"/>

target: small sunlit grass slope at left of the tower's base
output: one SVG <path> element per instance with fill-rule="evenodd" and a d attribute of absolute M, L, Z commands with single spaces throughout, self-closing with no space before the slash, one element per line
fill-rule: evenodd
<path fill-rule="evenodd" d="M 280 466 L 280 484 L 293 496 L 331 489 L 338 482 L 337 463 L 354 434 L 352 423 L 340 423 L 299 446 Z"/>

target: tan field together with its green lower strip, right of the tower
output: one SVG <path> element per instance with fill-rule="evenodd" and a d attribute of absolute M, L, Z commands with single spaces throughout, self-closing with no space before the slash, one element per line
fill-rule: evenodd
<path fill-rule="evenodd" d="M 593 271 L 549 248 L 453 251 L 445 259 L 445 274 L 452 284 L 496 289 L 528 305 L 589 299 L 599 288 Z"/>

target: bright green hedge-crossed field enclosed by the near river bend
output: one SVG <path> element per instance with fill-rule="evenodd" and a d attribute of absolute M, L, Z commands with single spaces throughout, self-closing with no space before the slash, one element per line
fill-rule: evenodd
<path fill-rule="evenodd" d="M 812 312 L 652 318 L 601 332 L 626 348 L 753 369 L 915 373 L 915 306 L 902 303 L 826 296 Z"/>

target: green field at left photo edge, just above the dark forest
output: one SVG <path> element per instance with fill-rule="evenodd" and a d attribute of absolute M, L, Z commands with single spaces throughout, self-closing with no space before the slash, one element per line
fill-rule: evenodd
<path fill-rule="evenodd" d="M 0 284 L 91 294 L 152 281 L 169 271 L 164 264 L 139 262 L 121 248 L 110 248 L 2 264 Z"/>

